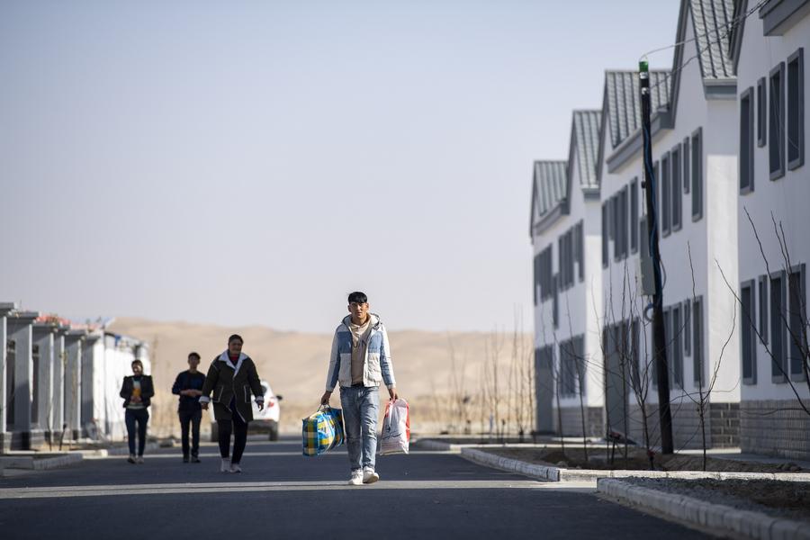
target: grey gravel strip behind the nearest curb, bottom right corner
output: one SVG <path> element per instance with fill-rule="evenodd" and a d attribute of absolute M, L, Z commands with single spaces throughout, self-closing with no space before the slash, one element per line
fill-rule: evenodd
<path fill-rule="evenodd" d="M 734 509 L 762 512 L 774 518 L 810 522 L 810 482 L 656 478 L 625 478 L 623 481 Z"/>

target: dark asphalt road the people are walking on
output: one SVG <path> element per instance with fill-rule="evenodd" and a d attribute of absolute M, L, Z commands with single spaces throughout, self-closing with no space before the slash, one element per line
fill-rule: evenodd
<path fill-rule="evenodd" d="M 248 442 L 244 473 L 219 473 L 179 449 L 85 459 L 0 479 L 0 537 L 51 538 L 703 538 L 601 500 L 593 490 L 413 451 L 379 457 L 381 481 L 348 486 L 345 452 L 303 457 L 301 443 Z"/>

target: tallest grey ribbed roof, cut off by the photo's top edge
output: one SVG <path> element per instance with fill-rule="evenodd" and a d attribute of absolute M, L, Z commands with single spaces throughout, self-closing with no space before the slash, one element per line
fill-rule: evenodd
<path fill-rule="evenodd" d="M 699 53 L 701 74 L 704 78 L 733 78 L 730 49 L 734 0 L 689 0 L 689 4 L 697 45 L 694 54 Z"/>

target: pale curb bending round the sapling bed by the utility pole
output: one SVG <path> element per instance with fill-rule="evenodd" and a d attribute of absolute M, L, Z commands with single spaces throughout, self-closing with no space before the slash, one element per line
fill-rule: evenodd
<path fill-rule="evenodd" d="M 677 478 L 697 480 L 781 480 L 810 482 L 810 473 L 712 473 L 703 471 L 596 471 L 590 469 L 563 469 L 550 465 L 528 464 L 502 455 L 494 455 L 476 448 L 461 448 L 461 456 L 476 464 L 487 465 L 520 473 L 539 480 L 551 482 L 590 482 L 595 485 L 600 478 Z"/>

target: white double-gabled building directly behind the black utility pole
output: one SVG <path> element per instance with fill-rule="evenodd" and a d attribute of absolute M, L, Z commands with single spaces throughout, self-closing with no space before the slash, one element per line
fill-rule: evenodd
<path fill-rule="evenodd" d="M 701 394 L 708 394 L 707 446 L 738 445 L 739 314 L 729 286 L 737 282 L 736 149 L 729 137 L 736 121 L 727 31 L 732 17 L 729 0 L 681 2 L 675 40 L 681 44 L 671 72 L 653 74 L 651 81 L 653 193 L 676 449 L 702 444 Z M 633 96 L 632 109 L 627 100 L 621 103 L 622 94 Z M 646 392 L 648 428 L 656 446 L 660 431 L 652 325 L 644 317 L 652 275 L 646 193 L 640 184 L 644 157 L 637 74 L 608 72 L 605 99 L 600 179 L 608 229 L 602 245 L 608 424 L 641 439 L 638 397 Z M 623 380 L 630 382 L 629 389 L 623 390 Z"/>

